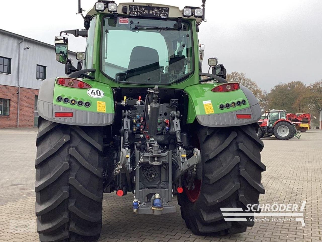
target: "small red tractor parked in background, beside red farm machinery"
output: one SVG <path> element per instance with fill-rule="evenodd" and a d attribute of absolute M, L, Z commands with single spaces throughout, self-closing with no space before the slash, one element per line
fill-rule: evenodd
<path fill-rule="evenodd" d="M 294 136 L 298 139 L 300 134 L 295 125 L 286 118 L 285 110 L 270 110 L 262 115 L 258 121 L 258 137 L 270 137 L 274 135 L 279 140 L 288 140 Z"/>

